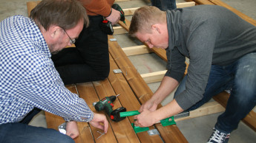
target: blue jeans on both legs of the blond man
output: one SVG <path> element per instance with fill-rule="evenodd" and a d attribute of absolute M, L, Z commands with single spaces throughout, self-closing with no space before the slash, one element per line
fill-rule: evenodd
<path fill-rule="evenodd" d="M 203 67 L 202 67 L 203 68 Z M 186 89 L 187 76 L 183 78 L 174 94 Z M 256 105 L 256 52 L 240 57 L 228 66 L 212 65 L 209 80 L 203 99 L 188 108 L 188 111 L 199 108 L 221 91 L 232 88 L 226 111 L 221 114 L 215 125 L 217 130 L 231 133 L 252 108 Z"/>

